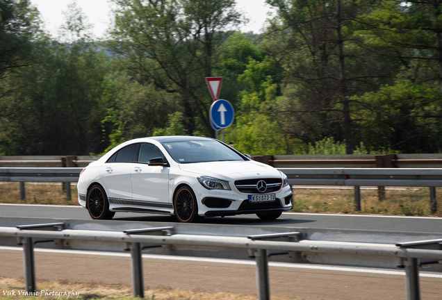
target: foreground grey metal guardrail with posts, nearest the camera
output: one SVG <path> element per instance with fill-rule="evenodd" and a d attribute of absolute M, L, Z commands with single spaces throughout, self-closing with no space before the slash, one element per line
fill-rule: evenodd
<path fill-rule="evenodd" d="M 158 246 L 181 245 L 186 247 L 208 247 L 211 249 L 247 249 L 249 258 L 256 260 L 256 277 L 259 300 L 270 300 L 268 258 L 269 250 L 288 251 L 288 253 L 338 253 L 348 258 L 358 257 L 361 260 L 370 256 L 382 256 L 395 260 L 398 267 L 406 272 L 407 299 L 420 299 L 418 259 L 442 260 L 442 240 L 412 241 L 397 244 L 363 244 L 351 242 L 321 242 L 303 240 L 299 232 L 249 235 L 247 237 L 190 235 L 174 233 L 172 226 L 158 228 L 132 228 L 126 231 L 95 231 L 65 229 L 63 222 L 49 224 L 32 224 L 26 226 L 0 227 L 0 236 L 16 238 L 17 244 L 24 250 L 24 275 L 26 292 L 34 292 L 35 264 L 33 245 L 40 242 L 58 242 L 68 245 L 69 241 L 108 242 L 120 244 L 131 251 L 133 296 L 144 297 L 142 279 L 143 243 Z M 45 240 L 37 240 L 45 239 Z M 414 247 L 428 247 L 415 249 Z M 150 248 L 150 247 L 148 247 Z M 275 255 L 275 254 L 274 254 Z M 280 253 L 279 255 L 286 255 Z"/>

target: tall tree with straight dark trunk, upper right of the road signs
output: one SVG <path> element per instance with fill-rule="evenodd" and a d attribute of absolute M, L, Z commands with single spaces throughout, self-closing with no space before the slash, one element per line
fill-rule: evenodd
<path fill-rule="evenodd" d="M 265 49 L 284 68 L 285 96 L 279 112 L 294 138 L 314 142 L 327 136 L 345 140 L 352 153 L 351 99 L 373 90 L 388 68 L 361 47 L 354 22 L 377 1 L 268 0 L 277 16 L 270 22 Z"/>

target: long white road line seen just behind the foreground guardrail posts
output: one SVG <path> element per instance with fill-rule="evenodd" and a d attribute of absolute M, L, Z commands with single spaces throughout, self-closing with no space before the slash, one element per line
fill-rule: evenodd
<path fill-rule="evenodd" d="M 14 250 L 23 251 L 21 247 L 6 247 L 0 246 L 0 250 Z M 45 253 L 67 253 L 67 254 L 81 254 L 81 255 L 97 255 L 97 256 L 119 256 L 119 257 L 130 257 L 129 253 L 120 252 L 108 252 L 108 251 L 80 251 L 80 250 L 63 250 L 63 249 L 41 249 L 35 248 L 35 252 L 45 252 Z M 181 261 L 194 261 L 200 263 L 224 263 L 224 264 L 234 264 L 234 265 L 256 265 L 253 260 L 234 260 L 234 259 L 224 259 L 224 258 L 196 258 L 190 256 L 167 256 L 159 254 L 142 254 L 142 258 L 158 259 L 158 260 L 181 260 Z M 384 269 L 369 269 L 369 268 L 358 268 L 358 267 L 330 267 L 326 265 L 306 265 L 306 264 L 295 264 L 295 263 L 268 263 L 270 267 L 286 267 L 286 268 L 297 268 L 297 269 L 318 269 L 327 271 L 338 271 L 338 272 L 356 272 L 356 273 L 368 273 L 368 274 L 383 274 L 383 275 L 400 275 L 405 276 L 404 271 L 388 271 Z M 427 278 L 442 278 L 442 274 L 434 274 L 429 272 L 419 272 L 419 276 Z"/>

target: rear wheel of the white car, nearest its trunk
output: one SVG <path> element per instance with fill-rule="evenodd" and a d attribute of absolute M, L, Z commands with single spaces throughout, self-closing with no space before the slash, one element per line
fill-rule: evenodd
<path fill-rule="evenodd" d="M 115 212 L 109 210 L 109 201 L 101 185 L 92 185 L 86 197 L 86 208 L 92 219 L 112 219 Z"/>

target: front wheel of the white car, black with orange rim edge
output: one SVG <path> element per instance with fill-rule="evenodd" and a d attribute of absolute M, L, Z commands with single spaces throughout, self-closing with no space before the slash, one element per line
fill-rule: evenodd
<path fill-rule="evenodd" d="M 191 223 L 202 219 L 198 215 L 197 197 L 191 188 L 184 185 L 175 193 L 174 213 L 179 222 Z"/>

